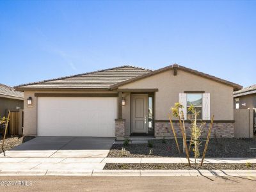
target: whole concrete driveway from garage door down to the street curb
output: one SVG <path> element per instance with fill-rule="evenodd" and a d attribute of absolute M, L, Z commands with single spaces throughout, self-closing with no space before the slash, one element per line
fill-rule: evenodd
<path fill-rule="evenodd" d="M 37 137 L 0 154 L 0 175 L 62 175 L 102 170 L 114 138 Z"/>

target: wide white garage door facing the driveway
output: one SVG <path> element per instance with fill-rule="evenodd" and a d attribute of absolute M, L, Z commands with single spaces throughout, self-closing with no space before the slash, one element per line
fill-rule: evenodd
<path fill-rule="evenodd" d="M 38 97 L 38 136 L 115 136 L 116 97 Z"/>

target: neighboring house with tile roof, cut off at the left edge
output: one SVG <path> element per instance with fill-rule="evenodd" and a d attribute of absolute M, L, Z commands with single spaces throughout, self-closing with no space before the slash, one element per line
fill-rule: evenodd
<path fill-rule="evenodd" d="M 8 110 L 19 111 L 23 109 L 24 93 L 0 83 L 0 116 L 7 116 Z"/>

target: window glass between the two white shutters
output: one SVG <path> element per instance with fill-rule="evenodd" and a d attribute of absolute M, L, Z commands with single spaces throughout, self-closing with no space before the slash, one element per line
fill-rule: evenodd
<path fill-rule="evenodd" d="M 196 112 L 198 112 L 198 119 L 202 119 L 202 93 L 188 93 L 187 94 L 187 118 L 191 119 L 192 113 L 188 111 L 189 106 L 195 106 Z"/>

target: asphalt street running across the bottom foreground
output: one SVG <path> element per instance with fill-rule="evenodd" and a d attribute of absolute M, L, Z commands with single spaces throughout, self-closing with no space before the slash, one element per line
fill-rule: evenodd
<path fill-rule="evenodd" d="M 256 177 L 0 177 L 0 191 L 255 191 Z M 12 181 L 12 182 L 10 182 Z M 19 185 L 23 182 L 23 186 Z M 5 184 L 8 184 L 6 182 Z M 17 184 L 17 185 L 14 185 Z M 24 186 L 24 184 L 26 184 Z"/>

